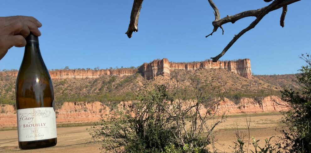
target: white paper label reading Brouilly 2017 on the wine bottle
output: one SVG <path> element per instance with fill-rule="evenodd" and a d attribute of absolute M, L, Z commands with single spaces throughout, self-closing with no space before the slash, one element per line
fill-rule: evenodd
<path fill-rule="evenodd" d="M 52 107 L 17 110 L 19 141 L 56 138 L 56 116 Z"/>

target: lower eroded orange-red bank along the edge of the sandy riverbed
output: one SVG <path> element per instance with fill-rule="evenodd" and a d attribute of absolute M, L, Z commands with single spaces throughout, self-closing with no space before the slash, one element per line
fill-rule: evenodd
<path fill-rule="evenodd" d="M 188 105 L 193 105 L 193 103 L 189 103 Z M 100 119 L 105 119 L 107 115 L 115 115 L 115 109 L 130 112 L 131 115 L 134 115 L 134 104 L 135 101 L 120 102 L 116 108 L 110 109 L 101 102 L 65 102 L 61 108 L 56 110 L 56 122 L 57 124 L 97 122 Z M 211 110 L 200 105 L 199 111 L 201 114 L 209 111 L 209 114 L 216 112 L 217 115 L 222 115 L 222 113 L 232 115 L 240 113 L 271 113 L 288 110 L 288 108 L 279 104 L 286 105 L 285 102 L 276 96 L 269 96 L 260 100 L 242 98 L 238 105 L 225 98 L 217 106 L 211 108 Z M 182 109 L 186 109 L 189 106 L 185 106 Z M 15 108 L 12 105 L 0 105 L 0 128 L 16 127 L 16 125 Z"/>

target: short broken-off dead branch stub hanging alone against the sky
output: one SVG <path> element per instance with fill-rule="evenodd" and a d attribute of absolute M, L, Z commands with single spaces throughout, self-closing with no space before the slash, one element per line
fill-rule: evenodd
<path fill-rule="evenodd" d="M 128 38 L 132 37 L 133 32 L 138 31 L 138 18 L 139 18 L 139 13 L 140 13 L 142 4 L 143 4 L 143 0 L 134 0 L 131 17 L 130 17 L 131 18 L 130 24 L 128 25 L 128 31 L 125 33 L 128 35 Z"/>

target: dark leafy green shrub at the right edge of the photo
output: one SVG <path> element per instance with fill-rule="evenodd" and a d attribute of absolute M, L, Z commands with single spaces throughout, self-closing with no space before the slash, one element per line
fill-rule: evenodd
<path fill-rule="evenodd" d="M 302 66 L 296 80 L 300 87 L 282 91 L 282 100 L 289 103 L 283 123 L 289 129 L 282 129 L 279 146 L 287 152 L 309 152 L 311 150 L 311 59 L 301 57 L 307 64 Z"/>

